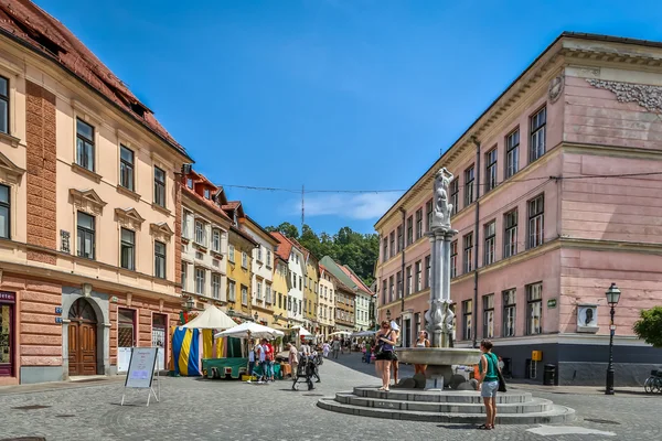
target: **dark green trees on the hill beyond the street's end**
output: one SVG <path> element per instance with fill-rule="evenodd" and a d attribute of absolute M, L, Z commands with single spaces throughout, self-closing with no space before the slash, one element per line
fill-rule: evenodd
<path fill-rule="evenodd" d="M 266 229 L 280 232 L 287 237 L 297 239 L 318 259 L 330 256 L 338 262 L 349 266 L 369 287 L 374 281 L 374 265 L 380 252 L 380 238 L 376 234 L 361 234 L 350 227 L 342 227 L 333 236 L 327 233 L 318 235 L 305 224 L 299 235 L 299 229 L 288 222 Z"/>

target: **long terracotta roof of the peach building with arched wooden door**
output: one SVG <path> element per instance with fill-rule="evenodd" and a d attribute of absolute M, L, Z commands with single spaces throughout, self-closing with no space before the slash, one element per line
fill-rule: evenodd
<path fill-rule="evenodd" d="M 153 112 L 129 90 L 64 24 L 29 0 L 0 3 L 0 32 L 58 63 L 158 137 L 186 151 L 157 121 Z"/>

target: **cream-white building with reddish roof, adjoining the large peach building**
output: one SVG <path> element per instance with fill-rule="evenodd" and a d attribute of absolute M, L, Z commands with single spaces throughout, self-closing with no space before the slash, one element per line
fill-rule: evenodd
<path fill-rule="evenodd" d="M 231 218 L 221 208 L 221 189 L 194 171 L 182 185 L 182 294 L 196 309 L 227 304 L 227 247 Z"/>

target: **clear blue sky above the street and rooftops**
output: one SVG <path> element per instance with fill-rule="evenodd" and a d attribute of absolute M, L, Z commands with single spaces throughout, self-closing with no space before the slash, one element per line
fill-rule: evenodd
<path fill-rule="evenodd" d="M 408 189 L 560 32 L 662 41 L 659 1 L 36 3 L 225 185 Z M 226 192 L 301 222 L 300 194 Z M 306 223 L 371 233 L 401 194 L 310 193 Z"/>

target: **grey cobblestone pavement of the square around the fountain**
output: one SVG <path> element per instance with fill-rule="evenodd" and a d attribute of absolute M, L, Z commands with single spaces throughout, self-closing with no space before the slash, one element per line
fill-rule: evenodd
<path fill-rule="evenodd" d="M 543 437 L 528 432 L 534 427 L 501 426 L 478 431 L 465 424 L 437 424 L 353 417 L 316 407 L 321 396 L 353 386 L 377 385 L 374 365 L 363 365 L 360 355 L 344 355 L 320 368 L 322 383 L 312 391 L 291 391 L 289 381 L 248 385 L 195 378 L 161 379 L 161 401 L 145 407 L 147 392 L 130 390 L 129 406 L 119 406 L 121 381 L 89 386 L 2 394 L 0 390 L 0 440 L 12 437 L 44 437 L 55 440 L 660 440 L 661 397 L 632 395 L 586 396 L 535 394 L 573 407 L 578 419 L 572 424 L 605 434 Z M 349 365 L 343 366 L 343 365 Z M 356 367 L 356 369 L 352 368 Z M 362 372 L 361 372 L 362 370 Z M 44 387 L 47 389 L 47 387 Z M 12 391 L 15 391 L 13 389 Z M 44 406 L 32 410 L 23 406 Z M 601 420 L 591 421 L 591 420 Z"/>

